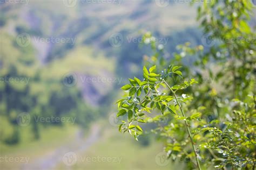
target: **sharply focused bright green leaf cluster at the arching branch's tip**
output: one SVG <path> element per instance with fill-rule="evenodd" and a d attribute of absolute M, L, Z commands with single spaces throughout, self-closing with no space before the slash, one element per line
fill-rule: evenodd
<path fill-rule="evenodd" d="M 120 109 L 117 116 L 127 116 L 127 121 L 123 121 L 119 125 L 119 131 L 129 132 L 134 138 L 142 134 L 142 128 L 139 123 L 146 123 L 150 119 L 145 114 L 151 114 L 154 109 L 161 112 L 161 115 L 173 114 L 179 117 L 177 114 L 177 101 L 169 94 L 166 87 L 166 81 L 171 79 L 174 75 L 182 78 L 181 72 L 178 70 L 180 66 L 169 66 L 167 69 L 157 73 L 156 66 L 153 66 L 147 70 L 143 68 L 144 80 L 141 81 L 137 77 L 129 79 L 130 83 L 122 87 L 127 91 L 127 97 L 117 101 L 118 108 Z M 193 84 L 197 83 L 194 79 L 190 81 L 184 81 L 181 84 L 176 84 L 170 87 L 173 93 L 176 91 L 185 89 Z M 180 102 L 186 102 L 190 100 L 190 97 L 183 95 L 179 98 Z M 180 117 L 179 117 L 180 118 Z"/>

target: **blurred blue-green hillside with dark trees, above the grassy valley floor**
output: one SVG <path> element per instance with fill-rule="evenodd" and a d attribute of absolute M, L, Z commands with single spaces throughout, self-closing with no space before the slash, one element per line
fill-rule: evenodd
<path fill-rule="evenodd" d="M 1 1 L 0 109 L 14 125 L 3 140 L 18 143 L 15 119 L 22 112 L 72 115 L 83 126 L 112 113 L 116 89 L 137 75 L 150 52 L 140 46 L 147 31 L 166 48 L 165 58 L 179 44 L 201 44 L 196 6 L 177 2 Z M 12 83 L 10 77 L 27 82 Z"/>

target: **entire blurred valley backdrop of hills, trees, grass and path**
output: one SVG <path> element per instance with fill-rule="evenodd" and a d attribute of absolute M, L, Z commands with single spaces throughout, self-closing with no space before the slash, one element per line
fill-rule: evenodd
<path fill-rule="evenodd" d="M 127 78 L 142 77 L 148 31 L 165 58 L 187 41 L 214 43 L 196 6 L 0 0 L 0 169 L 181 169 L 151 133 L 137 142 L 118 132 L 115 101 Z"/>

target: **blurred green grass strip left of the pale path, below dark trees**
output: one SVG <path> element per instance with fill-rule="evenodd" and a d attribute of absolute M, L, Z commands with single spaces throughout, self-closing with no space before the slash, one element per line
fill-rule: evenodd
<path fill-rule="evenodd" d="M 6 121 L 6 118 L 0 117 L 1 137 L 12 131 L 12 127 Z M 23 136 L 21 143 L 18 145 L 6 145 L 0 141 L 0 157 L 29 159 L 29 162 L 42 157 L 43 155 L 54 151 L 57 147 L 69 143 L 76 135 L 77 126 L 64 125 L 51 126 L 49 128 L 41 127 L 41 139 L 33 140 L 31 126 L 19 127 Z M 3 136 L 2 136 L 3 135 Z M 5 162 L 0 161 L 0 169 L 18 169 L 23 162 Z"/>

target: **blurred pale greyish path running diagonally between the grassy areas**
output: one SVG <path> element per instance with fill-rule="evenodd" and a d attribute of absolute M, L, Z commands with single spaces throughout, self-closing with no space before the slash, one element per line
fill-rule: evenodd
<path fill-rule="evenodd" d="M 83 131 L 77 132 L 76 139 L 72 143 L 60 146 L 56 150 L 44 155 L 41 158 L 29 164 L 23 164 L 22 170 L 50 170 L 54 169 L 58 164 L 63 163 L 63 156 L 65 153 L 74 152 L 76 154 L 85 152 L 93 143 L 99 138 L 100 127 L 98 124 L 92 125 L 90 134 L 84 138 Z M 67 167 L 69 169 L 69 167 Z"/>

